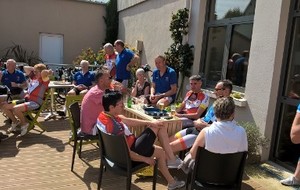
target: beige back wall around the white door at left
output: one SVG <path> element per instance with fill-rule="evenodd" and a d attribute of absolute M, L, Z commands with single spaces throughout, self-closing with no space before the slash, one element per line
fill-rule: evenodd
<path fill-rule="evenodd" d="M 64 36 L 64 63 L 105 39 L 105 6 L 74 0 L 1 0 L 0 50 L 20 44 L 39 54 L 40 33 Z M 0 52 L 0 55 L 3 52 Z"/>

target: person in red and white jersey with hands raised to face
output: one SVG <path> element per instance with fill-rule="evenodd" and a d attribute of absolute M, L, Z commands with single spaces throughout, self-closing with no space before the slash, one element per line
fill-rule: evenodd
<path fill-rule="evenodd" d="M 40 63 L 34 67 L 25 66 L 24 70 L 30 78 L 28 91 L 25 93 L 23 101 L 8 102 L 1 106 L 3 113 L 12 120 L 12 124 L 8 132 L 16 131 L 18 125 L 21 126 L 20 136 L 27 133 L 29 123 L 23 115 L 24 112 L 38 109 L 44 101 L 45 92 L 49 85 L 49 76 L 52 75 L 52 70 L 47 70 L 47 67 Z M 17 119 L 17 118 L 19 119 Z"/>

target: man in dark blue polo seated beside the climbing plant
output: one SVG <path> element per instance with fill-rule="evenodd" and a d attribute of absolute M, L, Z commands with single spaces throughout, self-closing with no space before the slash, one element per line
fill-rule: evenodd
<path fill-rule="evenodd" d="M 156 69 L 153 71 L 150 102 L 168 106 L 174 102 L 177 92 L 177 74 L 166 65 L 166 58 L 159 55 L 155 58 Z"/>

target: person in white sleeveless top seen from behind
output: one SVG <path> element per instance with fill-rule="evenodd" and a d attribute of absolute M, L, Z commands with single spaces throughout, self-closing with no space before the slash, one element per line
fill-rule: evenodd
<path fill-rule="evenodd" d="M 231 97 L 219 98 L 214 102 L 217 121 L 211 124 L 210 127 L 201 130 L 190 153 L 184 159 L 182 164 L 184 170 L 189 166 L 193 167 L 191 160 L 195 159 L 198 146 L 220 154 L 248 150 L 246 131 L 234 121 L 234 110 L 235 104 Z M 188 166 L 186 163 L 189 163 Z"/>

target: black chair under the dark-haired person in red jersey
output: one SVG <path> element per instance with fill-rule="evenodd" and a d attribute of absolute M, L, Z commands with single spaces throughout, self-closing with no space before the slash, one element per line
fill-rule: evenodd
<path fill-rule="evenodd" d="M 100 190 L 101 187 L 104 166 L 106 169 L 118 175 L 127 177 L 126 189 L 129 190 L 131 188 L 132 173 L 148 166 L 148 164 L 144 162 L 135 162 L 130 159 L 125 136 L 116 136 L 104 133 L 100 130 L 98 131 L 101 157 L 98 190 Z M 153 190 L 156 189 L 156 178 L 157 162 L 154 166 Z"/>

